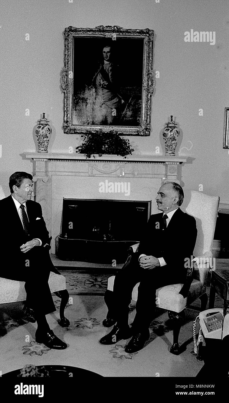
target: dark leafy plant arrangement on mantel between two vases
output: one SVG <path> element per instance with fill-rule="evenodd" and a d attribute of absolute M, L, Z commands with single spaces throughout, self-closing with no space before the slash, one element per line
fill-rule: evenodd
<path fill-rule="evenodd" d="M 131 148 L 128 139 L 120 137 L 121 133 L 115 133 L 110 131 L 109 133 L 89 133 L 82 135 L 84 137 L 83 143 L 76 147 L 76 152 L 85 154 L 87 158 L 90 158 L 92 154 L 98 154 L 100 157 L 102 154 L 114 154 L 127 156 L 131 155 L 133 148 Z"/>

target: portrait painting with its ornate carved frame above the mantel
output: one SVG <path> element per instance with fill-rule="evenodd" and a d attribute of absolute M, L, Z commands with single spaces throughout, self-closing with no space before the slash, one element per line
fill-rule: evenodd
<path fill-rule="evenodd" d="M 67 27 L 63 131 L 150 135 L 153 30 Z"/>

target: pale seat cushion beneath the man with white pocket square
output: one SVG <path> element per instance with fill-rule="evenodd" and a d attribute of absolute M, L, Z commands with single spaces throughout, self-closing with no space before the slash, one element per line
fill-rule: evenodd
<path fill-rule="evenodd" d="M 9 280 L 8 278 L 0 277 L 0 303 L 24 301 L 26 299 L 24 285 L 24 281 Z M 49 288 L 51 293 L 54 293 L 55 291 L 65 290 L 65 277 L 50 272 Z"/>

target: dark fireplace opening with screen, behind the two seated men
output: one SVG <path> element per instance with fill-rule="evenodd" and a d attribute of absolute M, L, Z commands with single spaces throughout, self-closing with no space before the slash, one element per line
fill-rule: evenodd
<path fill-rule="evenodd" d="M 63 198 L 56 254 L 61 260 L 124 263 L 129 246 L 141 239 L 151 201 Z"/>

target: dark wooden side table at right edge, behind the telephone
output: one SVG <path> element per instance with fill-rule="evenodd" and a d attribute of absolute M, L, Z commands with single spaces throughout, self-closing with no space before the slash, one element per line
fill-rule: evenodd
<path fill-rule="evenodd" d="M 215 293 L 223 298 L 223 316 L 229 313 L 229 259 L 216 259 L 215 271 L 211 272 L 209 309 L 214 308 Z"/>

